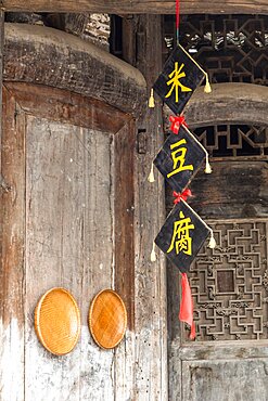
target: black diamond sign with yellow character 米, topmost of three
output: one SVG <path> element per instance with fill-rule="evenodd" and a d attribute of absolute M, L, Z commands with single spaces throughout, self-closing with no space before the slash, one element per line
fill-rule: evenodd
<path fill-rule="evenodd" d="M 204 77 L 201 67 L 178 46 L 168 57 L 153 88 L 168 107 L 179 115 Z"/>

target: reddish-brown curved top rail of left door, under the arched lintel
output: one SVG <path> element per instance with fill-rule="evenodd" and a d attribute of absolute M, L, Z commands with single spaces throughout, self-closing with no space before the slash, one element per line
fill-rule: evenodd
<path fill-rule="evenodd" d="M 25 82 L 5 82 L 5 88 L 15 93 L 25 113 L 53 121 L 116 133 L 131 118 L 101 101 L 67 90 Z"/>

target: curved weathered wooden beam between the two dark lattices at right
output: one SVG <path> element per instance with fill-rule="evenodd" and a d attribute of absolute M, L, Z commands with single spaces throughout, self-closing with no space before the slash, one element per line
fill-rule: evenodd
<path fill-rule="evenodd" d="M 253 83 L 216 83 L 212 93 L 199 88 L 184 108 L 191 128 L 209 124 L 268 125 L 268 87 Z M 165 113 L 169 113 L 165 108 Z"/>

